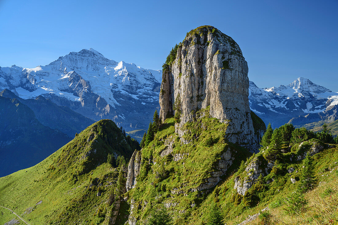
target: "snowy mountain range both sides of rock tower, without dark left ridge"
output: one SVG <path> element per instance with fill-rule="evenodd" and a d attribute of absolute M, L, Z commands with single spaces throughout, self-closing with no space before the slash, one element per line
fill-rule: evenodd
<path fill-rule="evenodd" d="M 112 119 L 126 131 L 147 129 L 159 110 L 161 70 L 116 62 L 94 49 L 61 56 L 47 66 L 0 68 L 0 91 L 22 99 L 44 96 L 93 120 Z M 259 88 L 250 81 L 250 108 L 273 127 L 338 119 L 338 93 L 299 77 L 288 85 Z"/>

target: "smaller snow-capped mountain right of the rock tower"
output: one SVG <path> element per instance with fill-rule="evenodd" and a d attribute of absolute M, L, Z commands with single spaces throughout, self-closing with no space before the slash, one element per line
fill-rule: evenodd
<path fill-rule="evenodd" d="M 338 93 L 299 77 L 289 85 L 259 88 L 249 83 L 249 104 L 263 121 L 279 127 L 289 121 L 304 125 L 338 119 Z"/>

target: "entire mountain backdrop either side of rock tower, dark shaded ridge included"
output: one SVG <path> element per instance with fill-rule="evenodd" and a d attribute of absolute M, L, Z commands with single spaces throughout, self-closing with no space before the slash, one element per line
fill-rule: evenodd
<path fill-rule="evenodd" d="M 141 141 L 160 108 L 161 81 L 161 70 L 116 62 L 94 49 L 34 69 L 0 67 L 0 176 L 35 165 L 100 119 Z M 266 125 L 318 130 L 338 119 L 338 93 L 309 79 L 271 88 L 249 84 L 250 109 Z"/>

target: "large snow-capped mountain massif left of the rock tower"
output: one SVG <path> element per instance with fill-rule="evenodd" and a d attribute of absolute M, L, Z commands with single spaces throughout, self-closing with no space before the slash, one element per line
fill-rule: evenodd
<path fill-rule="evenodd" d="M 145 129 L 159 107 L 161 70 L 116 62 L 94 49 L 61 56 L 33 69 L 0 68 L 0 91 L 39 95 L 94 120 L 112 119 L 126 130 Z"/>

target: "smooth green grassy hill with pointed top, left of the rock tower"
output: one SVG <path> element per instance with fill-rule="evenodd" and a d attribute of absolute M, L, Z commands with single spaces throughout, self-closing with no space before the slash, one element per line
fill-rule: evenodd
<path fill-rule="evenodd" d="M 102 223 L 119 174 L 106 163 L 107 154 L 129 159 L 138 148 L 138 143 L 124 137 L 113 121 L 96 122 L 41 163 L 1 177 L 0 205 L 34 225 Z M 128 207 L 122 208 L 118 224 L 126 220 Z M 1 216 L 0 224 L 12 217 Z"/>

